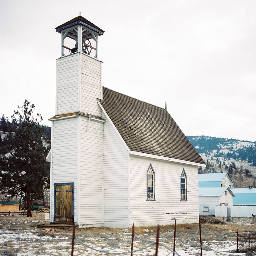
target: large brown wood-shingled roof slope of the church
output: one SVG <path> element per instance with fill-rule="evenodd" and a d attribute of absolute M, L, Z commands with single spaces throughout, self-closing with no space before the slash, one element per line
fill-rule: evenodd
<path fill-rule="evenodd" d="M 164 108 L 106 87 L 99 101 L 131 151 L 205 164 Z"/>

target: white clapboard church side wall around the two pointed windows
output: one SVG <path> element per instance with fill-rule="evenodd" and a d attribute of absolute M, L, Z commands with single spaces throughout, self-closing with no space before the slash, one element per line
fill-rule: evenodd
<path fill-rule="evenodd" d="M 147 201 L 147 170 L 155 171 L 155 201 Z M 180 176 L 187 175 L 187 201 L 180 201 Z M 198 222 L 197 166 L 130 155 L 130 226 Z"/>

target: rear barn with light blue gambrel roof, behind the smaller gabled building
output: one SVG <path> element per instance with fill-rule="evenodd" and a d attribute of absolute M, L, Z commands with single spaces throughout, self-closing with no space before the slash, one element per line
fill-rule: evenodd
<path fill-rule="evenodd" d="M 233 182 L 227 172 L 202 173 L 198 175 L 198 187 L 229 187 L 233 188 Z"/>

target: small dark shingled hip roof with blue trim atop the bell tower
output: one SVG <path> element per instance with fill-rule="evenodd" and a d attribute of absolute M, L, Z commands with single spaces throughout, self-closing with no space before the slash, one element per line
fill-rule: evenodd
<path fill-rule="evenodd" d="M 69 20 L 65 23 L 63 23 L 62 25 L 59 25 L 58 27 L 55 27 L 56 31 L 60 33 L 61 30 L 66 30 L 69 27 L 72 27 L 74 25 L 77 24 L 82 24 L 85 27 L 87 27 L 90 30 L 93 30 L 94 32 L 96 32 L 97 34 L 99 34 L 99 36 L 103 35 L 103 33 L 105 32 L 104 30 L 102 30 L 101 28 L 97 27 L 96 25 L 94 25 L 93 23 L 91 23 L 91 21 L 86 20 L 83 16 L 77 16 L 76 18 Z"/>

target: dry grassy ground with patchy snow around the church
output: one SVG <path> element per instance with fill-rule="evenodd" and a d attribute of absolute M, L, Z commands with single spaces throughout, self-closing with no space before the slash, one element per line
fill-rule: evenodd
<path fill-rule="evenodd" d="M 53 234 L 42 232 L 42 228 L 36 227 L 48 224 L 42 216 L 0 217 L 0 255 L 70 255 L 72 230 L 55 229 Z M 209 256 L 245 255 L 235 253 L 236 229 L 239 235 L 256 232 L 251 218 L 234 218 L 234 223 L 223 223 L 222 218 L 201 216 L 201 225 L 203 255 Z M 135 227 L 134 256 L 155 254 L 156 229 L 156 226 Z M 173 230 L 174 226 L 160 226 L 159 256 L 172 254 Z M 131 232 L 132 229 L 77 228 L 74 255 L 127 255 L 131 249 Z M 115 247 L 118 248 L 113 249 Z M 196 255 L 199 250 L 198 224 L 177 225 L 176 254 Z M 247 255 L 255 254 L 247 252 Z"/>

